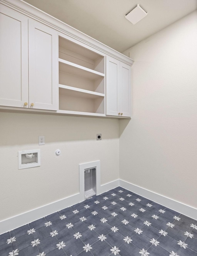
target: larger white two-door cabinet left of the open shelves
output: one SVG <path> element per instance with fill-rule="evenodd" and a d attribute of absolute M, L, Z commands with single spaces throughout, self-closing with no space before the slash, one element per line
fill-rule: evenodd
<path fill-rule="evenodd" d="M 58 109 L 57 31 L 0 5 L 0 105 Z"/>

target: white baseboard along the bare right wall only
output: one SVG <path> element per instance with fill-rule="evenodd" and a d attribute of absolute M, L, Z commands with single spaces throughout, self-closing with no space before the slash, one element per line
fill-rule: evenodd
<path fill-rule="evenodd" d="M 178 211 L 181 214 L 184 214 L 192 219 L 197 220 L 197 209 L 196 208 L 193 208 L 189 205 L 180 203 L 171 198 L 167 198 L 165 196 L 159 195 L 150 190 L 133 185 L 127 181 L 119 180 L 119 186 L 123 187 L 127 190 L 130 190 L 136 194 L 139 194 L 147 199 L 150 199 L 151 201 L 154 201 L 155 203 L 162 204 L 165 207 L 168 207 L 174 211 Z"/>

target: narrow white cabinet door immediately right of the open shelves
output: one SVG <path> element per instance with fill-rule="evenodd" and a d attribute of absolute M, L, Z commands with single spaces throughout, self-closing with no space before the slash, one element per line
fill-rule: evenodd
<path fill-rule="evenodd" d="M 119 102 L 119 69 L 120 62 L 107 56 L 106 65 L 106 114 L 118 116 Z"/>

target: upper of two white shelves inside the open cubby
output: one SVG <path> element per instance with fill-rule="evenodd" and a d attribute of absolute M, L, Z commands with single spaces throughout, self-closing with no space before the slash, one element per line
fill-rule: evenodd
<path fill-rule="evenodd" d="M 83 77 L 86 79 L 90 79 L 90 80 L 96 80 L 100 77 L 105 76 L 105 74 L 103 73 L 100 73 L 98 71 L 80 66 L 78 64 L 75 64 L 60 58 L 59 58 L 59 71 L 69 73 L 71 75 Z"/>

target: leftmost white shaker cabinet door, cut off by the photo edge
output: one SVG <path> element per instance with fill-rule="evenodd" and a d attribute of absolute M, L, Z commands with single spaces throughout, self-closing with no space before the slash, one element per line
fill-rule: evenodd
<path fill-rule="evenodd" d="M 26 107 L 24 103 L 28 103 L 28 18 L 1 4 L 0 66 L 0 105 Z"/>

